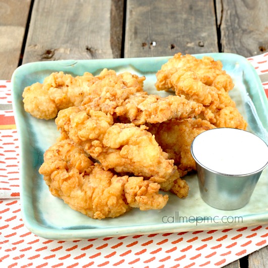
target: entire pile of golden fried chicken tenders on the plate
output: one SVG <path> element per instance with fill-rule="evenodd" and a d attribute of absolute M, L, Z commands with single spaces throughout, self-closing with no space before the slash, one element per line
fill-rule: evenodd
<path fill-rule="evenodd" d="M 56 118 L 60 130 L 39 169 L 52 195 L 93 219 L 162 209 L 169 196 L 159 190 L 188 195 L 181 178 L 195 171 L 190 146 L 198 134 L 246 129 L 220 61 L 177 53 L 156 79 L 157 90 L 173 93 L 148 94 L 144 76 L 108 69 L 97 76 L 56 72 L 24 89 L 25 111 Z"/>

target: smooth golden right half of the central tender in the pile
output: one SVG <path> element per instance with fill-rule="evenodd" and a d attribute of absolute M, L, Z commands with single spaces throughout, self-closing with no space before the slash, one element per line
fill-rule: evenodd
<path fill-rule="evenodd" d="M 98 160 L 117 172 L 131 172 L 136 176 L 147 177 L 151 182 L 158 183 L 160 189 L 169 191 L 174 181 L 180 180 L 180 174 L 173 160 L 167 160 L 168 155 L 146 129 L 144 125 L 135 127 L 133 124 L 114 124 L 104 135 L 103 144 L 117 151 Z M 188 191 L 185 194 L 187 196 Z"/>

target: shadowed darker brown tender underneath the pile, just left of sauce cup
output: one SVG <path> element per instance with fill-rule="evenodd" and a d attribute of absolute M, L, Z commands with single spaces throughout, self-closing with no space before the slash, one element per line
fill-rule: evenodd
<path fill-rule="evenodd" d="M 177 165 L 180 177 L 187 172 L 196 170 L 195 161 L 191 155 L 191 143 L 194 138 L 208 130 L 216 128 L 206 120 L 188 119 L 176 120 L 172 119 L 158 125 L 155 133 L 155 139 L 164 151 L 169 154 L 170 159 L 174 159 Z M 179 184 L 180 185 L 180 184 Z M 176 187 L 174 191 L 176 191 Z"/>

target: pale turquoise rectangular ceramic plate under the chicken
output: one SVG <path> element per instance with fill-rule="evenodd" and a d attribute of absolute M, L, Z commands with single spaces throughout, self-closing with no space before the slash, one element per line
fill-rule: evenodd
<path fill-rule="evenodd" d="M 209 53 L 221 60 L 235 83 L 230 95 L 248 122 L 248 131 L 268 143 L 268 104 L 254 68 L 243 57 L 230 53 Z M 204 55 L 194 55 L 201 58 Z M 59 136 L 54 120 L 39 120 L 25 113 L 22 92 L 26 86 L 42 82 L 52 72 L 63 71 L 73 76 L 103 68 L 118 73 L 129 71 L 146 76 L 144 89 L 162 96 L 154 88 L 155 73 L 170 57 L 36 62 L 19 67 L 13 74 L 13 104 L 20 141 L 21 210 L 25 226 L 47 239 L 76 240 L 96 237 L 149 233 L 171 233 L 193 230 L 215 230 L 268 223 L 268 169 L 257 183 L 249 203 L 238 210 L 219 210 L 202 201 L 196 175 L 186 176 L 190 191 L 185 199 L 169 193 L 168 204 L 161 210 L 130 212 L 115 219 L 93 220 L 72 210 L 63 200 L 50 194 L 38 173 L 44 151 Z M 246 146 L 246 144 L 245 144 Z"/>

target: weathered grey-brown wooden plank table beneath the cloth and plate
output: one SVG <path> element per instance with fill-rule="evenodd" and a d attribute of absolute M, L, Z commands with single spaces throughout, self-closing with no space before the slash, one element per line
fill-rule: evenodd
<path fill-rule="evenodd" d="M 0 0 L 0 79 L 21 64 L 268 51 L 266 0 Z M 266 267 L 262 248 L 228 267 Z"/>

